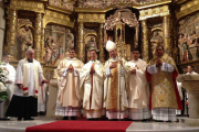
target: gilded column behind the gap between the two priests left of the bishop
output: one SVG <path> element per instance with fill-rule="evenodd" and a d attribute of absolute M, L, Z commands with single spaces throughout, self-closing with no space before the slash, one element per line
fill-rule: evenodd
<path fill-rule="evenodd" d="M 85 45 L 84 45 L 84 23 L 78 23 L 78 40 L 77 40 L 78 59 L 85 62 Z"/>

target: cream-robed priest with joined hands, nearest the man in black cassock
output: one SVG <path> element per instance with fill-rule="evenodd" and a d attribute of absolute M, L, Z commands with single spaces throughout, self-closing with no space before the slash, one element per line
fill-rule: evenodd
<path fill-rule="evenodd" d="M 57 67 L 59 92 L 55 116 L 63 120 L 75 120 L 81 114 L 80 69 L 84 64 L 74 57 L 75 51 L 69 51 L 70 57 L 60 62 Z"/>

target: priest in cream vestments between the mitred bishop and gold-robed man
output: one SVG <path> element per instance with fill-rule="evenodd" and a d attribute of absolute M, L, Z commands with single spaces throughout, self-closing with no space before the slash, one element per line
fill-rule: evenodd
<path fill-rule="evenodd" d="M 139 58 L 138 48 L 133 51 L 133 59 L 126 63 L 129 68 L 128 81 L 128 118 L 147 121 L 151 114 L 148 108 L 149 86 L 146 79 L 146 62 Z"/>

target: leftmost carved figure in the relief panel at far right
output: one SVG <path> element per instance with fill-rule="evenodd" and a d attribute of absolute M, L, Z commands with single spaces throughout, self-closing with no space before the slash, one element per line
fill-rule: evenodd
<path fill-rule="evenodd" d="M 180 48 L 180 61 L 187 62 L 188 61 L 188 45 L 187 45 L 187 34 L 180 34 L 178 40 L 178 47 Z"/>

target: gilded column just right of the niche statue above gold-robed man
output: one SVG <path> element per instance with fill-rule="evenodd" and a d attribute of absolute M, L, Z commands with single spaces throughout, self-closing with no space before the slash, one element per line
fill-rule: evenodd
<path fill-rule="evenodd" d="M 164 47 L 165 52 L 171 55 L 172 45 L 170 43 L 170 15 L 164 16 Z"/>

